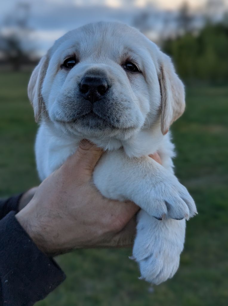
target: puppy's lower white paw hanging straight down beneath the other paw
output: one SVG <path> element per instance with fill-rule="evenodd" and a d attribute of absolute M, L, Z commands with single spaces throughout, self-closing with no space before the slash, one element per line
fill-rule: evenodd
<path fill-rule="evenodd" d="M 142 211 L 141 217 L 143 214 L 146 213 Z M 133 258 L 139 264 L 140 279 L 159 285 L 172 278 L 179 267 L 185 220 L 158 221 L 149 215 L 142 219 L 137 226 Z"/>

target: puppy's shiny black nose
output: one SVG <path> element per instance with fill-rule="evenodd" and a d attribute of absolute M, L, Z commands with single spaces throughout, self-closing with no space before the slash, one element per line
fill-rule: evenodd
<path fill-rule="evenodd" d="M 84 99 L 94 103 L 108 91 L 108 83 L 102 77 L 84 77 L 79 88 Z"/>

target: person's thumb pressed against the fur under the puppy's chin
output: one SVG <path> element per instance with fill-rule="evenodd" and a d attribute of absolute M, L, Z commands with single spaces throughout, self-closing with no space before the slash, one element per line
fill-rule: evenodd
<path fill-rule="evenodd" d="M 69 158 L 68 166 L 77 166 L 78 173 L 91 176 L 102 154 L 103 150 L 101 148 L 83 139 L 75 154 Z"/>

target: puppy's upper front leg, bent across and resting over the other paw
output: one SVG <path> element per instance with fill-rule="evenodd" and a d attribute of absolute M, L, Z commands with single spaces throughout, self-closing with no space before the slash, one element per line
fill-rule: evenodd
<path fill-rule="evenodd" d="M 130 159 L 123 150 L 106 152 L 94 170 L 94 184 L 103 196 L 131 200 L 159 220 L 196 214 L 187 189 L 149 157 Z"/>

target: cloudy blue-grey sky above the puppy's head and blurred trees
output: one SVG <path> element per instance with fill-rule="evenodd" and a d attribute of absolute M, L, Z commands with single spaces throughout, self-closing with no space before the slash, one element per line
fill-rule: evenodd
<path fill-rule="evenodd" d="M 199 9 L 207 0 L 186 0 L 192 9 Z M 185 1 L 185 2 L 186 2 Z M 228 0 L 224 1 L 228 7 Z M 134 25 L 140 12 L 151 13 L 151 28 L 158 33 L 166 10 L 175 10 L 184 0 L 7 0 L 0 1 L 0 27 L 9 14 L 16 14 L 16 4 L 30 4 L 29 27 L 34 29 L 35 48 L 43 54 L 65 32 L 99 20 L 118 20 Z"/>

